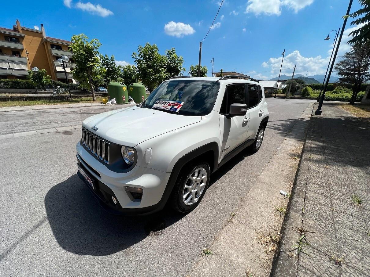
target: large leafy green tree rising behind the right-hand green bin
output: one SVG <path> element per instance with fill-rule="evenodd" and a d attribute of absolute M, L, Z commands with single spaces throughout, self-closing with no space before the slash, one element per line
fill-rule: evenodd
<path fill-rule="evenodd" d="M 137 64 L 137 77 L 152 92 L 166 77 L 166 59 L 158 53 L 157 45 L 149 42 L 144 47 L 139 45 L 137 52 L 132 53 Z"/>

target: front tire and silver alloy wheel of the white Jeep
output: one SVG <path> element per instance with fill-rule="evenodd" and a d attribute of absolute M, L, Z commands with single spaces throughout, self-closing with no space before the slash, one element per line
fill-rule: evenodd
<path fill-rule="evenodd" d="M 198 172 L 196 173 L 197 170 Z M 198 175 L 195 176 L 195 174 Z M 188 213 L 194 210 L 202 201 L 208 188 L 210 177 L 211 170 L 208 163 L 203 161 L 186 164 L 180 171 L 172 191 L 172 208 L 181 213 Z M 192 181 L 193 178 L 196 178 L 195 183 Z M 206 181 L 201 182 L 204 179 Z M 188 202 L 188 204 L 185 202 Z"/>

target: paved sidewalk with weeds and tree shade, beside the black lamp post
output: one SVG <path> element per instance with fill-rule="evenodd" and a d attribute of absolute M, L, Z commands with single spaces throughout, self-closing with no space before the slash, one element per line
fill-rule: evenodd
<path fill-rule="evenodd" d="M 370 124 L 335 105 L 322 110 L 303 148 L 276 277 L 369 276 Z"/>

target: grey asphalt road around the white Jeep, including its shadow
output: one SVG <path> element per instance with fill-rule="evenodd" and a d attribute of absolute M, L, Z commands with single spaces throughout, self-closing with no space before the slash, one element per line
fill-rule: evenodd
<path fill-rule="evenodd" d="M 105 213 L 76 174 L 80 129 L 1 140 L 0 276 L 186 276 L 312 101 L 267 102 L 260 151 L 240 153 L 212 175 L 188 215 Z M 112 108 L 0 112 L 0 130 L 78 125 Z"/>

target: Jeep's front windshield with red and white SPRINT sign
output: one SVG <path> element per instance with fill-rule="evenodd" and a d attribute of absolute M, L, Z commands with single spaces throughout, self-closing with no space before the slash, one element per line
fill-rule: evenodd
<path fill-rule="evenodd" d="M 215 81 L 182 79 L 166 81 L 148 96 L 141 107 L 181 115 L 203 116 L 213 109 L 219 87 L 219 82 Z M 175 105 L 175 109 L 166 110 L 164 104 Z"/>

